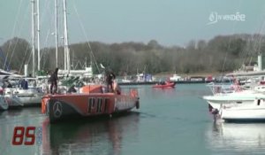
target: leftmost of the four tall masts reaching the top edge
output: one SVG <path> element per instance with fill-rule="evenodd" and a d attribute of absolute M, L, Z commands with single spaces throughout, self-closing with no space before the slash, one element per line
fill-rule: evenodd
<path fill-rule="evenodd" d="M 34 0 L 31 1 L 31 9 L 32 9 L 32 75 L 35 76 L 35 46 L 34 46 Z"/>

